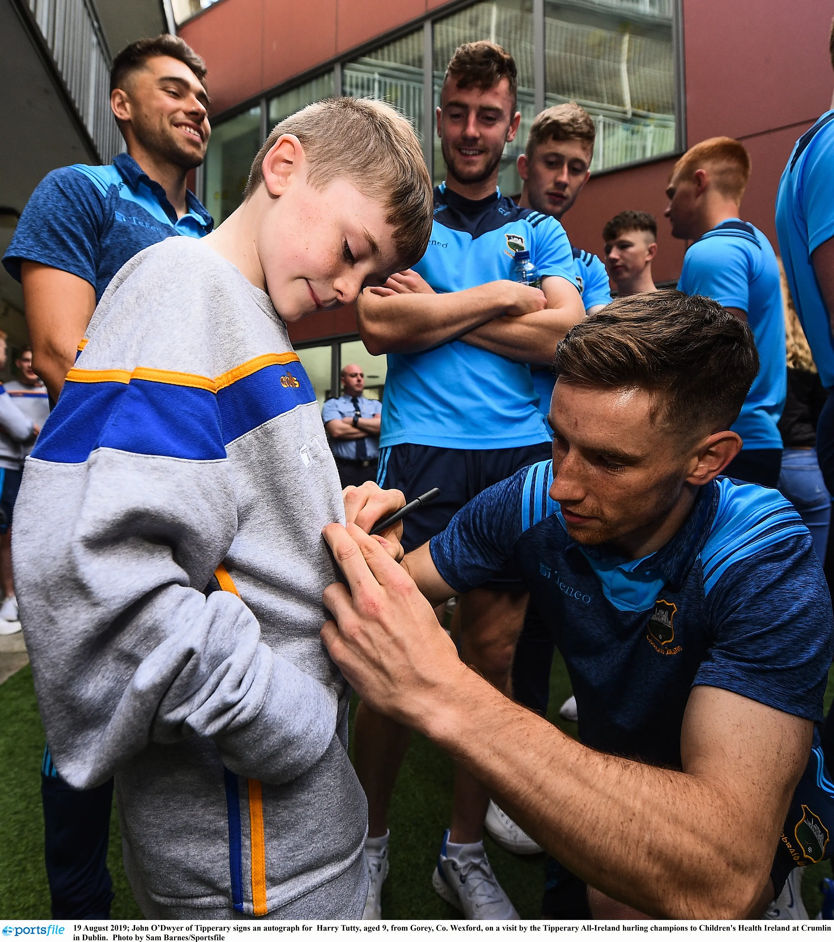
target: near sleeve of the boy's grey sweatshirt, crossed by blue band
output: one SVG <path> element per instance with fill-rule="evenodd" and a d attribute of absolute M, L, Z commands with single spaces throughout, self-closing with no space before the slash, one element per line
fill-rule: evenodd
<path fill-rule="evenodd" d="M 155 368 L 153 338 L 174 315 L 148 268 L 110 296 L 16 508 L 14 572 L 46 736 L 74 788 L 106 781 L 149 743 L 194 736 L 213 739 L 231 771 L 286 782 L 334 740 L 335 694 L 260 640 L 235 593 L 203 593 L 237 533 L 235 482 L 212 381 Z M 207 309 L 205 290 L 195 279 Z M 192 344 L 201 329 L 184 328 Z"/>

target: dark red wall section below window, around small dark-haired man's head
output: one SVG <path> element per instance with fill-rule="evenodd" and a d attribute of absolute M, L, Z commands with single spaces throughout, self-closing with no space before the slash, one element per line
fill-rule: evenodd
<path fill-rule="evenodd" d="M 602 227 L 624 209 L 640 209 L 658 220 L 658 255 L 652 266 L 655 281 L 677 279 L 683 263 L 684 245 L 672 238 L 663 217 L 664 190 L 675 160 L 662 160 L 628 171 L 592 177 L 563 224 L 573 245 L 602 255 Z"/>

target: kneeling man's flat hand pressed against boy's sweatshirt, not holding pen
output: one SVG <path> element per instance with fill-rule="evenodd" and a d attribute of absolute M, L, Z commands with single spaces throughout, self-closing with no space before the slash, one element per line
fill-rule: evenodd
<path fill-rule="evenodd" d="M 369 707 L 415 725 L 421 703 L 429 707 L 440 685 L 470 672 L 414 580 L 380 544 L 354 524 L 329 524 L 323 533 L 350 588 L 335 582 L 324 590 L 335 621 L 321 639 Z"/>

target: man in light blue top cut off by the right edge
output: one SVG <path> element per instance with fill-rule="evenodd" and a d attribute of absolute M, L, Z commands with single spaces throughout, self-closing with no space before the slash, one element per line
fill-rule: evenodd
<path fill-rule="evenodd" d="M 834 66 L 834 24 L 829 38 Z M 832 103 L 834 104 L 834 103 Z M 799 138 L 777 194 L 782 264 L 823 385 L 834 389 L 834 106 Z M 834 494 L 834 397 L 817 421 L 817 458 Z"/>

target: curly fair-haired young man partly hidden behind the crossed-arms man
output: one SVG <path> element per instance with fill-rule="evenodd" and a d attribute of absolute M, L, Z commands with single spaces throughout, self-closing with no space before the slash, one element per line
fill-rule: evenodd
<path fill-rule="evenodd" d="M 524 181 L 519 206 L 562 221 L 591 176 L 597 129 L 591 116 L 575 102 L 547 108 L 536 115 L 524 154 L 518 155 L 518 175 Z M 585 314 L 611 302 L 605 266 L 592 252 L 573 248 L 573 267 Z M 556 382 L 549 365 L 532 368 L 539 394 L 539 411 L 547 415 Z"/>

